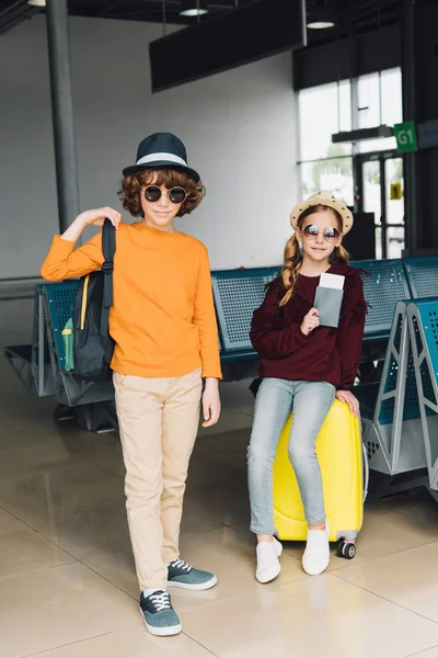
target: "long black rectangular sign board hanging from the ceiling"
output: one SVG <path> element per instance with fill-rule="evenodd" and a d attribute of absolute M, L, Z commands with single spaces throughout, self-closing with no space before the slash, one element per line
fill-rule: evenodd
<path fill-rule="evenodd" d="M 195 3 L 192 0 L 192 8 Z M 152 90 L 171 89 L 302 48 L 306 39 L 304 0 L 240 3 L 207 21 L 192 21 L 188 27 L 150 42 Z"/>

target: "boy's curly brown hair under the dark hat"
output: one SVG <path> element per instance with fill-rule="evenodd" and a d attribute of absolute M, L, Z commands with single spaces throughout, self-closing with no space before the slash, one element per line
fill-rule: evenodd
<path fill-rule="evenodd" d="M 122 181 L 122 188 L 118 191 L 118 197 L 123 203 L 125 211 L 134 217 L 143 217 L 141 208 L 141 188 L 153 181 L 154 185 L 164 185 L 168 190 L 172 188 L 184 188 L 187 192 L 187 198 L 182 204 L 177 217 L 183 217 L 192 213 L 203 201 L 206 189 L 203 183 L 195 183 L 184 170 L 176 167 L 145 169 L 139 168 L 134 173 L 125 177 Z"/>

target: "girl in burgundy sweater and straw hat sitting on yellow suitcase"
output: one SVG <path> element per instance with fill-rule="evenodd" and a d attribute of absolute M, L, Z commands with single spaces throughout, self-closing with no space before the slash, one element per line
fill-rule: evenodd
<path fill-rule="evenodd" d="M 247 451 L 251 530 L 257 535 L 260 582 L 280 572 L 283 546 L 274 537 L 273 463 L 291 408 L 289 458 L 309 523 L 302 565 L 314 576 L 330 561 L 316 436 L 335 397 L 359 413 L 349 388 L 359 364 L 367 306 L 360 272 L 349 266 L 342 247 L 353 216 L 330 192 L 319 192 L 293 208 L 290 222 L 295 234 L 285 249 L 285 266 L 268 285 L 251 328 L 252 343 L 262 356 L 263 377 Z M 320 326 L 319 311 L 313 308 L 323 272 L 345 276 L 337 329 Z"/>

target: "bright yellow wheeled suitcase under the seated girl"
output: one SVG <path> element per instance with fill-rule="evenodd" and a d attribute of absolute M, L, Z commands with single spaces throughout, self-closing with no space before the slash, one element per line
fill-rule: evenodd
<path fill-rule="evenodd" d="M 278 538 L 300 542 L 307 538 L 308 524 L 287 451 L 291 422 L 292 416 L 281 432 L 274 463 L 274 522 Z M 350 559 L 364 517 L 362 443 L 360 421 L 346 404 L 333 402 L 316 440 L 316 454 L 330 541 L 339 542 L 338 555 Z"/>

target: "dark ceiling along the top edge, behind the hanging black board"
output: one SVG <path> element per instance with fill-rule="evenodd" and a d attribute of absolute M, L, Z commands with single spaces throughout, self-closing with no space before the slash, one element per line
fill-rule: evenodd
<path fill-rule="evenodd" d="M 245 4 L 253 0 L 238 0 Z M 288 0 L 289 2 L 293 0 Z M 297 0 L 298 1 L 298 0 Z M 418 3 L 436 0 L 417 0 Z M 233 9 L 237 0 L 207 0 L 209 14 L 201 20 Z M 76 16 L 93 16 L 127 21 L 163 21 L 163 4 L 169 23 L 191 24 L 197 19 L 180 16 L 180 0 L 68 0 L 69 13 Z M 322 7 L 327 7 L 334 16 L 336 27 L 332 30 L 309 30 L 309 43 L 332 41 L 394 23 L 400 20 L 403 0 L 307 0 L 308 18 Z M 35 9 L 26 0 L 0 0 L 0 34 L 21 21 L 32 18 L 44 9 Z"/>

